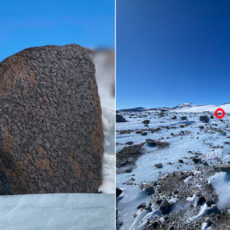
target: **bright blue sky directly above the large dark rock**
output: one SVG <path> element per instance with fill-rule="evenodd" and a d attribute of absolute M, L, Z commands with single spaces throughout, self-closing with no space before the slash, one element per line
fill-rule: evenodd
<path fill-rule="evenodd" d="M 25 48 L 114 47 L 115 0 L 0 1 L 0 61 Z"/>

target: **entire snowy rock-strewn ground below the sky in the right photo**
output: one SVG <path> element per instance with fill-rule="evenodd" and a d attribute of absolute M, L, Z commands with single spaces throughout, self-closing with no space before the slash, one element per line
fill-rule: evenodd
<path fill-rule="evenodd" d="M 117 229 L 230 229 L 230 116 L 215 108 L 117 112 Z"/>

